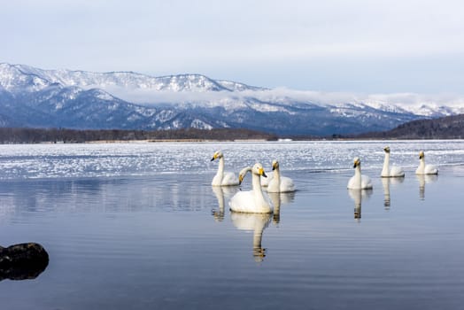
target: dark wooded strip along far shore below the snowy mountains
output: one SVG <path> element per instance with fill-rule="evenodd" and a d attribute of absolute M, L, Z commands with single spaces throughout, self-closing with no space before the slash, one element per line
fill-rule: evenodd
<path fill-rule="evenodd" d="M 388 131 L 360 135 L 286 136 L 293 140 L 314 139 L 462 139 L 464 114 L 432 120 L 413 120 Z M 275 141 L 282 136 L 244 128 L 173 130 L 78 130 L 67 128 L 0 128 L 0 143 L 86 143 L 111 141 Z"/>

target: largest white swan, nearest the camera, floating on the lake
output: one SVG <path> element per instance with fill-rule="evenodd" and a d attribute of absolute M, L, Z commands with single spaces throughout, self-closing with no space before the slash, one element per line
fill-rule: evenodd
<path fill-rule="evenodd" d="M 251 172 L 252 190 L 239 191 L 234 197 L 230 198 L 228 202 L 230 210 L 243 213 L 272 213 L 273 208 L 267 199 L 264 198 L 261 184 L 259 183 L 259 176 L 266 176 L 263 167 L 259 163 L 255 164 L 252 168 L 245 167 L 240 171 L 238 176 L 240 182 L 244 180 L 244 176 L 248 171 Z"/>

